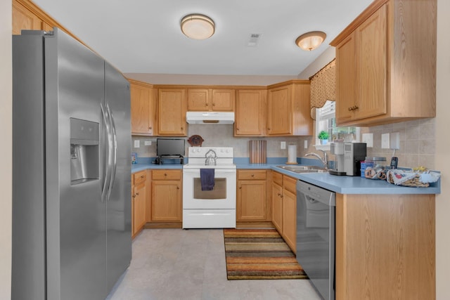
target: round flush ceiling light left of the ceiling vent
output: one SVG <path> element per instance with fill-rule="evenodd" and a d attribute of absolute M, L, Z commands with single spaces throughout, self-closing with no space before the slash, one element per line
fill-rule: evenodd
<path fill-rule="evenodd" d="M 193 13 L 181 19 L 181 31 L 191 39 L 207 39 L 214 34 L 214 21 L 207 15 Z"/>

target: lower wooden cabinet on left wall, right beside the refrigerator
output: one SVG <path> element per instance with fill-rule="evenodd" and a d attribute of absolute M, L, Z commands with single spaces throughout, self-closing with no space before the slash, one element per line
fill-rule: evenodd
<path fill-rule="evenodd" d="M 146 224 L 146 171 L 132 175 L 131 182 L 131 235 L 134 237 Z"/>

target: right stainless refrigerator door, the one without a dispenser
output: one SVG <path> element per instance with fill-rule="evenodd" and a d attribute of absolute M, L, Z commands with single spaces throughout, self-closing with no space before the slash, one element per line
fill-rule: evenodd
<path fill-rule="evenodd" d="M 131 121 L 129 82 L 105 63 L 105 105 L 110 111 L 113 144 L 107 206 L 108 291 L 131 261 Z"/>

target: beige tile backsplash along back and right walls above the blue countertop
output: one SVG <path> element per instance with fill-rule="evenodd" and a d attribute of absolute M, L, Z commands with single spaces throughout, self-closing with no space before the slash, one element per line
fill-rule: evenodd
<path fill-rule="evenodd" d="M 435 169 L 434 118 L 361 127 L 361 134 L 373 133 L 373 148 L 367 148 L 367 155 L 386 157 L 387 164 L 389 164 L 393 150 L 381 149 L 381 134 L 392 132 L 400 133 L 400 149 L 395 152 L 395 156 L 399 157 L 399 167 L 423 166 Z M 249 157 L 248 141 L 250 140 L 267 141 L 267 157 L 288 157 L 288 147 L 281 149 L 281 141 L 285 141 L 286 145 L 297 145 L 298 157 L 304 157 L 307 152 L 317 152 L 313 146 L 315 136 L 237 138 L 233 136 L 233 125 L 189 125 L 188 137 L 195 134 L 203 137 L 205 140 L 203 146 L 233 147 L 235 157 Z M 153 136 L 132 136 L 131 151 L 137 152 L 138 157 L 155 157 L 156 139 L 157 137 Z M 187 148 L 189 146 L 188 138 L 185 139 Z M 134 148 L 135 140 L 140 141 L 140 148 Z M 151 141 L 152 145 L 144 145 L 145 141 Z M 304 141 L 308 143 L 307 149 L 304 149 Z M 330 159 L 334 159 L 333 155 L 330 155 Z"/>

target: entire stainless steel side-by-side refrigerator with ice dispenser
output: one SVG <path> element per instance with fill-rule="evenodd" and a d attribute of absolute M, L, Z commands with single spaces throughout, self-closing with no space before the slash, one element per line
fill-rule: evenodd
<path fill-rule="evenodd" d="M 13 299 L 105 299 L 129 266 L 129 97 L 68 34 L 13 36 Z"/>

